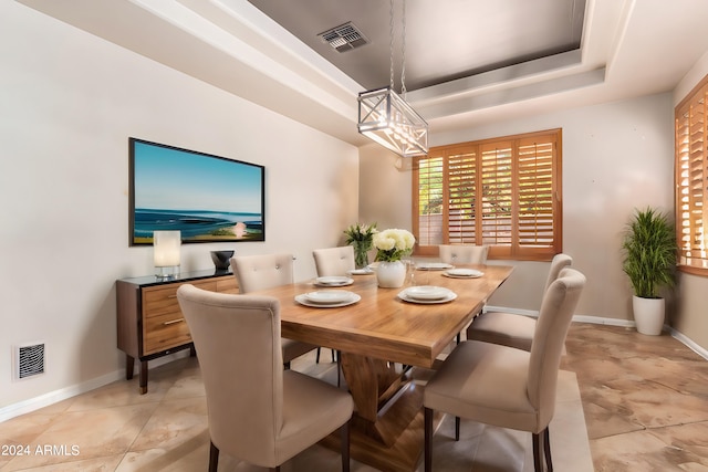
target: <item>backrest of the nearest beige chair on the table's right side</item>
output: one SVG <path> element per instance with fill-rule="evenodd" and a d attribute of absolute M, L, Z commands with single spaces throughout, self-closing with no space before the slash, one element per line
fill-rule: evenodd
<path fill-rule="evenodd" d="M 584 286 L 585 276 L 581 272 L 563 269 L 541 303 L 531 344 L 527 386 L 529 400 L 539 411 L 539 431 L 553 418 L 561 354 Z"/>

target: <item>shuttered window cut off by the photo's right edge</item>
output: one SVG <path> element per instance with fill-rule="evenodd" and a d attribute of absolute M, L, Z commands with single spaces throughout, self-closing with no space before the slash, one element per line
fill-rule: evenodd
<path fill-rule="evenodd" d="M 708 76 L 678 104 L 676 117 L 676 239 L 679 269 L 708 275 Z"/>

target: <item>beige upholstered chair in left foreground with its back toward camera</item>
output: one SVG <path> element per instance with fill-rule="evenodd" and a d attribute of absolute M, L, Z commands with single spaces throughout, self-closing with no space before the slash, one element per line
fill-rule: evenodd
<path fill-rule="evenodd" d="M 283 370 L 280 303 L 259 295 L 209 292 L 185 284 L 179 306 L 195 343 L 207 394 L 209 471 L 219 451 L 278 471 L 280 464 L 341 430 L 348 471 L 348 392 Z"/>

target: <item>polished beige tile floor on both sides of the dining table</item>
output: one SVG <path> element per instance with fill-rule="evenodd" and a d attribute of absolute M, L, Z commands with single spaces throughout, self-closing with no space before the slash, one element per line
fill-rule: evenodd
<path fill-rule="evenodd" d="M 708 471 L 708 361 L 670 336 L 601 325 L 574 324 L 566 348 L 551 424 L 556 470 Z M 311 360 L 309 374 L 334 381 L 332 364 Z M 148 394 L 136 391 L 136 379 L 117 381 L 0 423 L 0 447 L 32 444 L 27 457 L 0 454 L 0 471 L 206 470 L 206 401 L 196 360 L 150 370 Z M 522 457 L 521 466 L 494 463 L 479 445 L 475 461 L 489 461 L 479 468 L 471 459 L 454 463 L 454 454 L 469 454 L 470 448 L 455 443 L 448 429 L 445 422 L 436 434 L 435 450 L 446 461 L 439 470 L 530 470 L 525 434 L 464 424 L 464 437 L 507 441 Z M 339 470 L 339 455 L 317 448 L 283 472 Z M 582 464 L 585 450 L 587 464 Z M 258 470 L 223 455 L 219 465 L 220 471 Z M 353 465 L 355 472 L 369 470 Z"/>

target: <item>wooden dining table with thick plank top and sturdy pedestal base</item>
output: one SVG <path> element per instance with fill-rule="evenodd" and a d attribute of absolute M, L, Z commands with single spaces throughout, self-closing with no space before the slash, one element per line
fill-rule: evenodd
<path fill-rule="evenodd" d="M 381 289 L 375 274 L 352 275 L 353 284 L 326 289 L 313 281 L 254 292 L 281 305 L 283 337 L 340 352 L 341 367 L 355 411 L 351 422 L 352 458 L 383 471 L 413 471 L 423 450 L 423 386 L 416 369 L 435 368 L 450 346 L 509 277 L 507 265 L 458 265 L 479 277 L 446 276 L 442 270 L 417 270 L 421 285 L 447 287 L 446 303 L 410 303 Z M 361 296 L 347 306 L 312 307 L 295 297 L 313 291 L 346 290 Z M 339 434 L 324 444 L 339 449 Z"/>

